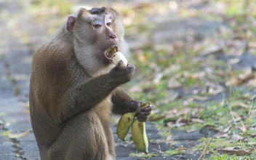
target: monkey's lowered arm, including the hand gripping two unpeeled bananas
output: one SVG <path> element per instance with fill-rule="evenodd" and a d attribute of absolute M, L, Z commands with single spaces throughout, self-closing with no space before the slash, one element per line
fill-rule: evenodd
<path fill-rule="evenodd" d="M 130 97 L 122 87 L 117 87 L 113 90 L 111 100 L 113 103 L 113 113 L 123 115 L 127 112 L 137 111 L 136 116 L 140 121 L 146 121 L 151 114 L 151 105 L 141 110 L 142 103 Z"/>

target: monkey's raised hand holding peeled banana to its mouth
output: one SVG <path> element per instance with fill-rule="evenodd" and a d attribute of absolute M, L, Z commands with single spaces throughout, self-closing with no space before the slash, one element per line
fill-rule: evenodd
<path fill-rule="evenodd" d="M 110 71 L 111 78 L 116 84 L 125 84 L 131 81 L 133 73 L 135 73 L 135 66 L 130 63 L 127 66 L 123 66 L 123 60 L 119 60 L 119 63 Z"/>

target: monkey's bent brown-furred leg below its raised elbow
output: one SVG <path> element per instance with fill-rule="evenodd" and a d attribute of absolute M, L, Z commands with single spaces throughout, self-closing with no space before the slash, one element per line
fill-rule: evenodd
<path fill-rule="evenodd" d="M 108 159 L 108 143 L 97 114 L 87 111 L 66 122 L 47 159 Z"/>

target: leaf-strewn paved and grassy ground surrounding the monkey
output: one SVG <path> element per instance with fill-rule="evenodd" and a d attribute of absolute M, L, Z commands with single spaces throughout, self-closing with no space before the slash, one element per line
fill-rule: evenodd
<path fill-rule="evenodd" d="M 117 159 L 254 159 L 255 6 L 225 0 L 0 1 L 0 159 L 39 159 L 28 106 L 36 47 L 75 8 L 106 5 L 124 17 L 137 68 L 125 87 L 153 105 L 148 155 L 116 137 L 113 116 Z"/>

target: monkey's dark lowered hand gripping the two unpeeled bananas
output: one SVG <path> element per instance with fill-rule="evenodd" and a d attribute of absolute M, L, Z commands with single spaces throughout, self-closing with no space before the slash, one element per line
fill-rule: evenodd
<path fill-rule="evenodd" d="M 150 103 L 147 103 L 147 106 L 145 108 L 143 108 L 143 105 L 145 105 L 145 103 L 138 100 L 132 100 L 129 102 L 129 112 L 137 111 L 137 114 L 135 116 L 137 116 L 137 119 L 139 121 L 147 121 L 153 109 Z"/>

